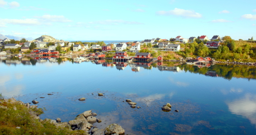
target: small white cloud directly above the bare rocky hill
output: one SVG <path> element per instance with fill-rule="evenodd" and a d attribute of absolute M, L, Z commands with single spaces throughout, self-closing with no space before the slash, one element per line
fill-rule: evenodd
<path fill-rule="evenodd" d="M 35 16 L 35 18 L 39 18 L 45 22 L 60 22 L 60 23 L 72 22 L 71 20 L 65 18 L 63 15 L 47 14 L 47 15 L 43 15 L 43 16 Z"/>

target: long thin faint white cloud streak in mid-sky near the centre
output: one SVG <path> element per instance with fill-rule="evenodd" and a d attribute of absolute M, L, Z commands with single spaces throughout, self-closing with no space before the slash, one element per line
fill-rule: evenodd
<path fill-rule="evenodd" d="M 102 20 L 102 21 L 90 22 L 90 24 L 120 25 L 120 24 L 143 24 L 143 23 L 125 21 L 125 20 Z"/>

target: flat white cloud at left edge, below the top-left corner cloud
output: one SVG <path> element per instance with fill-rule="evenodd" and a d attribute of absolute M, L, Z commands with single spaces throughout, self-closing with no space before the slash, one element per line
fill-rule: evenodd
<path fill-rule="evenodd" d="M 18 25 L 39 25 L 38 19 L 0 19 L 0 22 Z"/>

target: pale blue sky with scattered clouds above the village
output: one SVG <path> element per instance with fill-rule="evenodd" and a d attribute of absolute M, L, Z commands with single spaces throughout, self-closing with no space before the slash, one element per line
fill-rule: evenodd
<path fill-rule="evenodd" d="M 0 34 L 59 40 L 256 39 L 256 0 L 0 0 Z"/>

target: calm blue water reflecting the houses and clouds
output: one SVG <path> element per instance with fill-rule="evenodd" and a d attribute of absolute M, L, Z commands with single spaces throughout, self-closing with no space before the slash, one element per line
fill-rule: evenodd
<path fill-rule="evenodd" d="M 129 135 L 253 135 L 256 131 L 254 66 L 126 66 L 68 58 L 1 58 L 0 69 L 0 93 L 25 103 L 39 101 L 39 108 L 47 110 L 41 119 L 69 121 L 92 110 L 102 120 L 93 125 L 105 128 L 117 123 Z M 77 100 L 82 97 L 86 100 Z M 130 108 L 122 102 L 126 99 L 141 108 Z M 166 103 L 172 105 L 170 112 L 161 110 Z"/>

